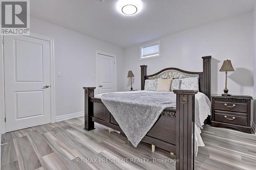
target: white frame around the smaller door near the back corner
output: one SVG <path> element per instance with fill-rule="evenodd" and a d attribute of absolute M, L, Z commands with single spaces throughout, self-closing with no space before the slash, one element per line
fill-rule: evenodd
<path fill-rule="evenodd" d="M 105 55 L 105 56 L 109 56 L 109 57 L 113 57 L 114 58 L 114 76 L 115 76 L 115 88 L 114 90 L 117 91 L 117 63 L 116 63 L 116 55 L 115 54 L 111 54 L 111 53 L 106 53 L 106 52 L 102 52 L 102 51 L 99 51 L 99 50 L 96 50 L 96 89 L 95 89 L 95 93 L 98 94 L 99 93 L 99 82 L 98 82 L 98 55 L 101 54 L 101 55 Z"/>

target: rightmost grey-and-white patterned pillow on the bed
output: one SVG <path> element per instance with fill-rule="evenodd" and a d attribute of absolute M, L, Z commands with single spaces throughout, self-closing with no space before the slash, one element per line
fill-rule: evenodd
<path fill-rule="evenodd" d="M 180 79 L 181 90 L 199 90 L 199 77 Z"/>

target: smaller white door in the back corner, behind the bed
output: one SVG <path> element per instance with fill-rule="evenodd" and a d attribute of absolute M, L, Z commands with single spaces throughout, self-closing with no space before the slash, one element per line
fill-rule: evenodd
<path fill-rule="evenodd" d="M 115 57 L 97 53 L 98 93 L 115 92 Z"/>

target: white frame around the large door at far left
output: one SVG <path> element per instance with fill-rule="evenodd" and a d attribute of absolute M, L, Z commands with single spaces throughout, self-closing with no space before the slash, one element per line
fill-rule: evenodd
<path fill-rule="evenodd" d="M 54 60 L 54 38 L 30 33 L 30 35 L 23 35 L 31 38 L 38 38 L 49 41 L 50 44 L 50 80 L 51 80 L 51 123 L 55 123 L 55 60 Z M 0 48 L 0 134 L 6 133 L 6 111 L 5 111 L 5 65 L 4 65 L 4 36 L 1 36 Z"/>

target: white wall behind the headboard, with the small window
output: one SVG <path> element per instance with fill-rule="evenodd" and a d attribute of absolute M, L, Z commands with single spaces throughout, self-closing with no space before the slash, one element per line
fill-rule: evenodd
<path fill-rule="evenodd" d="M 161 41 L 161 57 L 139 60 L 139 45 L 124 51 L 123 88 L 129 89 L 125 78 L 133 70 L 134 89 L 140 89 L 140 65 L 148 65 L 151 75 L 166 67 L 202 71 L 203 56 L 212 56 L 211 93 L 223 93 L 225 73 L 219 72 L 223 60 L 231 59 L 235 72 L 229 72 L 231 94 L 253 94 L 253 22 L 252 12 L 190 29 L 157 40 Z"/>

